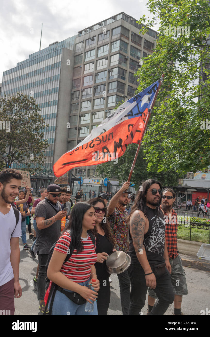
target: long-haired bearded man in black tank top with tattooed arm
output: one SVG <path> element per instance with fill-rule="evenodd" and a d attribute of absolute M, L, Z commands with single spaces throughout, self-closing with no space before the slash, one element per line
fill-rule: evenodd
<path fill-rule="evenodd" d="M 129 255 L 131 265 L 129 315 L 139 315 L 148 287 L 158 300 L 149 315 L 163 315 L 174 301 L 171 265 L 165 240 L 164 213 L 160 210 L 162 186 L 146 180 L 138 192 L 129 216 Z"/>

